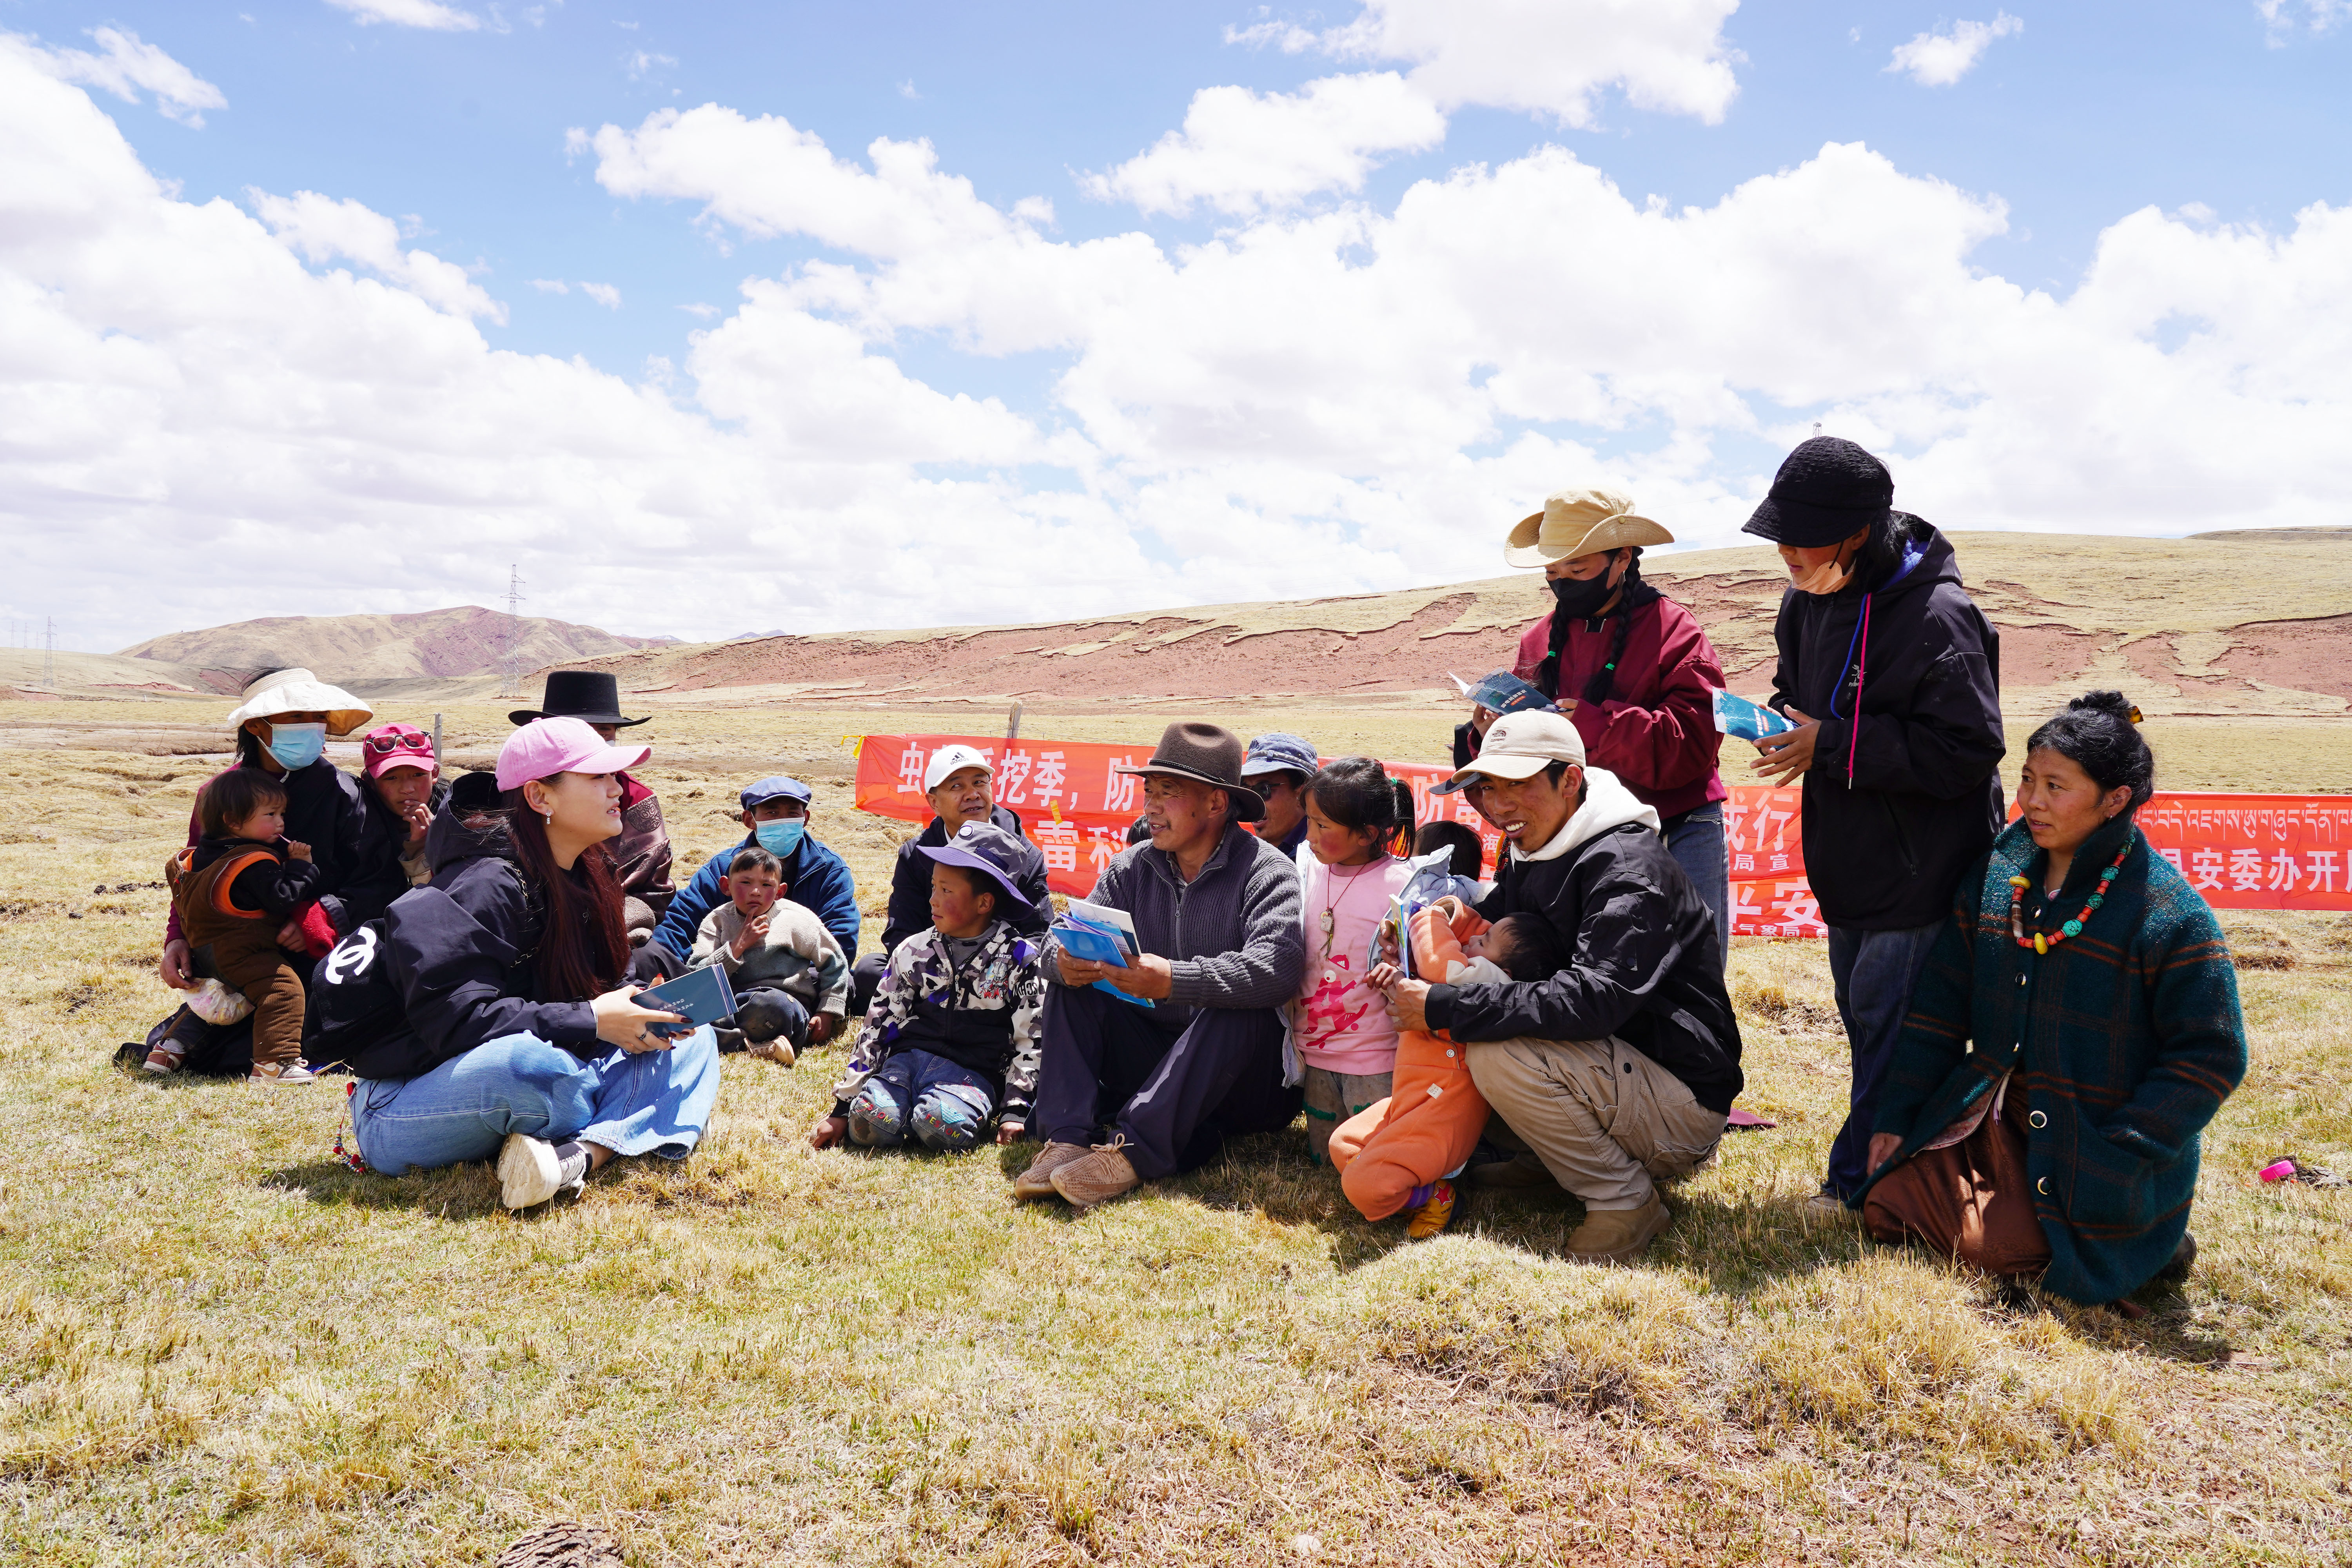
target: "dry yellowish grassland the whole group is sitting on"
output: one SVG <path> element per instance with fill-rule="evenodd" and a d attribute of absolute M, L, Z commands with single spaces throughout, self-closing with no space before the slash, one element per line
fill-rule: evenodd
<path fill-rule="evenodd" d="M 1397 757 L 1444 722 L 1204 717 Z M 503 719 L 449 726 L 487 757 Z M 840 736 L 915 726 L 943 722 L 673 710 L 647 773 L 699 853 L 746 773 L 814 776 L 877 898 L 901 830 L 849 811 Z M 2154 741 L 2171 785 L 2288 788 L 2281 755 L 2345 776 L 2340 729 Z M 1804 1206 L 1844 1046 L 1802 943 L 1733 952 L 1745 1103 L 1780 1126 L 1726 1140 L 1637 1269 L 1562 1262 L 1557 1194 L 1404 1246 L 1298 1131 L 1087 1218 L 1007 1201 L 1025 1150 L 814 1154 L 830 1053 L 731 1058 L 691 1161 L 515 1218 L 487 1171 L 332 1164 L 329 1086 L 108 1067 L 167 1006 L 146 884 L 207 771 L 0 750 L 0 1561 L 489 1563 L 546 1519 L 637 1566 L 2347 1556 L 2352 1194 L 2251 1171 L 2352 1168 L 2352 922 L 2227 917 L 2253 1074 L 2206 1140 L 2199 1269 L 2138 1321 Z"/>

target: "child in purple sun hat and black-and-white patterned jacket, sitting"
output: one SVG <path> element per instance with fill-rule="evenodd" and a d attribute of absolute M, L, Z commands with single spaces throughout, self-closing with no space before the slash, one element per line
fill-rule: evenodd
<path fill-rule="evenodd" d="M 1025 903 L 1016 884 L 1025 846 L 993 823 L 964 823 L 922 853 L 936 863 L 931 924 L 889 954 L 833 1112 L 809 1128 L 809 1147 L 847 1135 L 887 1150 L 913 1133 L 929 1150 L 969 1150 L 990 1117 L 997 1143 L 1028 1131 L 1042 943 L 997 919 L 997 910 Z"/>

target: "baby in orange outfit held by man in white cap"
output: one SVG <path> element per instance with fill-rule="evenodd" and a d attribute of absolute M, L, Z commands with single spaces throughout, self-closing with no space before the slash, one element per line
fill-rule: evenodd
<path fill-rule="evenodd" d="M 1541 933 L 1522 933 L 1512 914 L 1489 926 L 1456 898 L 1439 898 L 1411 919 L 1414 973 L 1449 985 L 1501 985 L 1531 978 L 1538 969 Z M 1526 959 L 1526 964 L 1522 964 Z M 1381 971 L 1374 971 L 1378 976 Z M 1374 985 L 1378 980 L 1367 976 Z M 1486 1100 L 1470 1084 L 1463 1046 L 1444 1032 L 1397 1034 L 1397 1067 L 1388 1100 L 1367 1105 L 1331 1133 L 1331 1164 L 1341 1190 L 1367 1220 L 1385 1220 L 1414 1208 L 1411 1234 L 1435 1237 L 1454 1213 L 1444 1180 L 1461 1171 L 1486 1128 Z"/>

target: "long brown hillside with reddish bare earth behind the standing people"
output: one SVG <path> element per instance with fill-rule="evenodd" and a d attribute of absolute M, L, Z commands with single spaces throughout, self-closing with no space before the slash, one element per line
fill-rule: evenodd
<path fill-rule="evenodd" d="M 2002 628 L 2004 691 L 2119 684 L 2161 712 L 2326 715 L 2352 698 L 2352 531 L 2201 538 L 1957 534 Z M 1771 682 L 1785 574 L 1762 545 L 1661 555 L 1649 578 L 1698 611 L 1731 684 Z M 1531 571 L 1343 599 L 1214 604 L 1091 621 L 673 644 L 607 656 L 652 701 L 927 703 L 1397 698 L 1508 665 L 1543 614 Z M 708 698 L 706 698 L 708 701 Z"/>

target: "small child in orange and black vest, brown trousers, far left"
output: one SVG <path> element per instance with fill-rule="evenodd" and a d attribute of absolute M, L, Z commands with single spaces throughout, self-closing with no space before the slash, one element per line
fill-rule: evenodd
<path fill-rule="evenodd" d="M 252 1084 L 308 1084 L 301 1060 L 303 987 L 278 947 L 287 922 L 303 936 L 318 917 L 318 867 L 310 846 L 285 837 L 287 790 L 261 769 L 230 769 L 195 795 L 200 837 L 165 863 L 172 907 L 195 954 L 221 985 L 254 1004 Z M 306 917 L 308 912 L 308 917 Z M 325 931 L 332 940 L 332 931 Z M 183 1046 L 165 1034 L 148 1051 L 148 1072 L 176 1072 Z"/>

